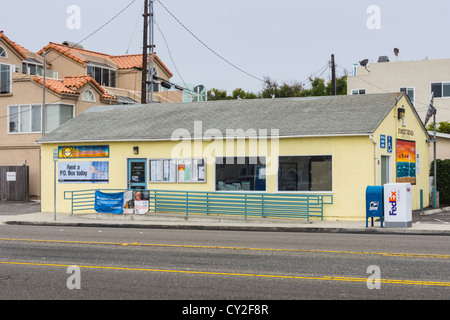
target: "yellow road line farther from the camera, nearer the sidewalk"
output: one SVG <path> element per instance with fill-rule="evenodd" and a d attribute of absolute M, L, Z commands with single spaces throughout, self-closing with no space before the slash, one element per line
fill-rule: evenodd
<path fill-rule="evenodd" d="M 200 246 L 183 244 L 160 244 L 160 243 L 124 243 L 124 242 L 98 242 L 98 241 L 70 241 L 70 240 L 43 240 L 43 239 L 10 239 L 0 238 L 0 241 L 25 241 L 25 242 L 47 242 L 47 243 L 70 243 L 70 244 L 101 244 L 119 246 L 148 246 L 148 247 L 173 247 L 173 248 L 197 248 L 197 249 L 227 249 L 227 250 L 249 250 L 249 251 L 281 251 L 281 252 L 309 252 L 309 253 L 333 253 L 333 254 L 361 254 L 380 255 L 385 257 L 408 257 L 408 258 L 438 258 L 450 259 L 450 255 L 426 254 L 426 253 L 388 253 L 388 252 L 358 252 L 358 251 L 334 251 L 334 250 L 307 250 L 307 249 L 275 249 L 275 248 L 251 248 L 251 247 L 227 247 L 227 246 Z"/>

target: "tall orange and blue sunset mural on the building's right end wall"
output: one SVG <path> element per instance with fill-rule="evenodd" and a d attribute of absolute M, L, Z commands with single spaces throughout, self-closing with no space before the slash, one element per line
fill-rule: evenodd
<path fill-rule="evenodd" d="M 397 182 L 416 184 L 416 142 L 397 140 Z"/>

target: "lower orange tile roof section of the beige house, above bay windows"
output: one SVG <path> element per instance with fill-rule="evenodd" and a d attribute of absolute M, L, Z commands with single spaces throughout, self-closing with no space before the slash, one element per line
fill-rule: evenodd
<path fill-rule="evenodd" d="M 35 82 L 39 83 L 40 85 L 43 84 L 42 77 L 34 77 L 33 80 Z M 50 78 L 45 79 L 45 87 L 57 94 L 68 93 L 68 94 L 73 94 L 73 95 L 79 95 L 80 93 L 78 92 L 78 90 L 81 89 L 82 87 L 84 87 L 88 83 L 92 83 L 92 85 L 100 91 L 101 100 L 103 100 L 103 99 L 117 100 L 117 98 L 114 95 L 109 94 L 90 75 L 65 77 L 63 80 L 50 79 Z"/>

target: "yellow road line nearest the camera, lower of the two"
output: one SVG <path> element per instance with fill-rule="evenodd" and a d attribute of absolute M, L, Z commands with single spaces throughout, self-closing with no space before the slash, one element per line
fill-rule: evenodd
<path fill-rule="evenodd" d="M 65 267 L 65 268 L 73 266 L 73 265 L 65 265 L 65 264 L 31 263 L 31 262 L 14 262 L 14 261 L 0 261 L 0 264 L 45 266 L 45 267 Z M 187 270 L 125 268 L 125 267 L 106 267 L 106 266 L 79 266 L 79 265 L 77 265 L 77 267 L 86 268 L 86 269 L 145 271 L 145 272 L 163 272 L 163 273 L 179 273 L 179 274 L 202 274 L 202 275 L 222 275 L 222 276 L 257 277 L 257 278 L 343 281 L 343 282 L 367 282 L 366 278 L 355 278 L 355 277 L 334 277 L 334 276 L 306 277 L 306 276 L 289 276 L 289 275 L 256 274 L 256 273 L 233 273 L 233 272 L 212 272 L 212 271 L 192 271 L 192 270 L 187 271 Z M 400 279 L 380 279 L 379 281 L 380 281 L 380 283 L 385 283 L 385 284 L 450 287 L 450 282 L 439 282 L 439 281 L 400 280 Z"/>

